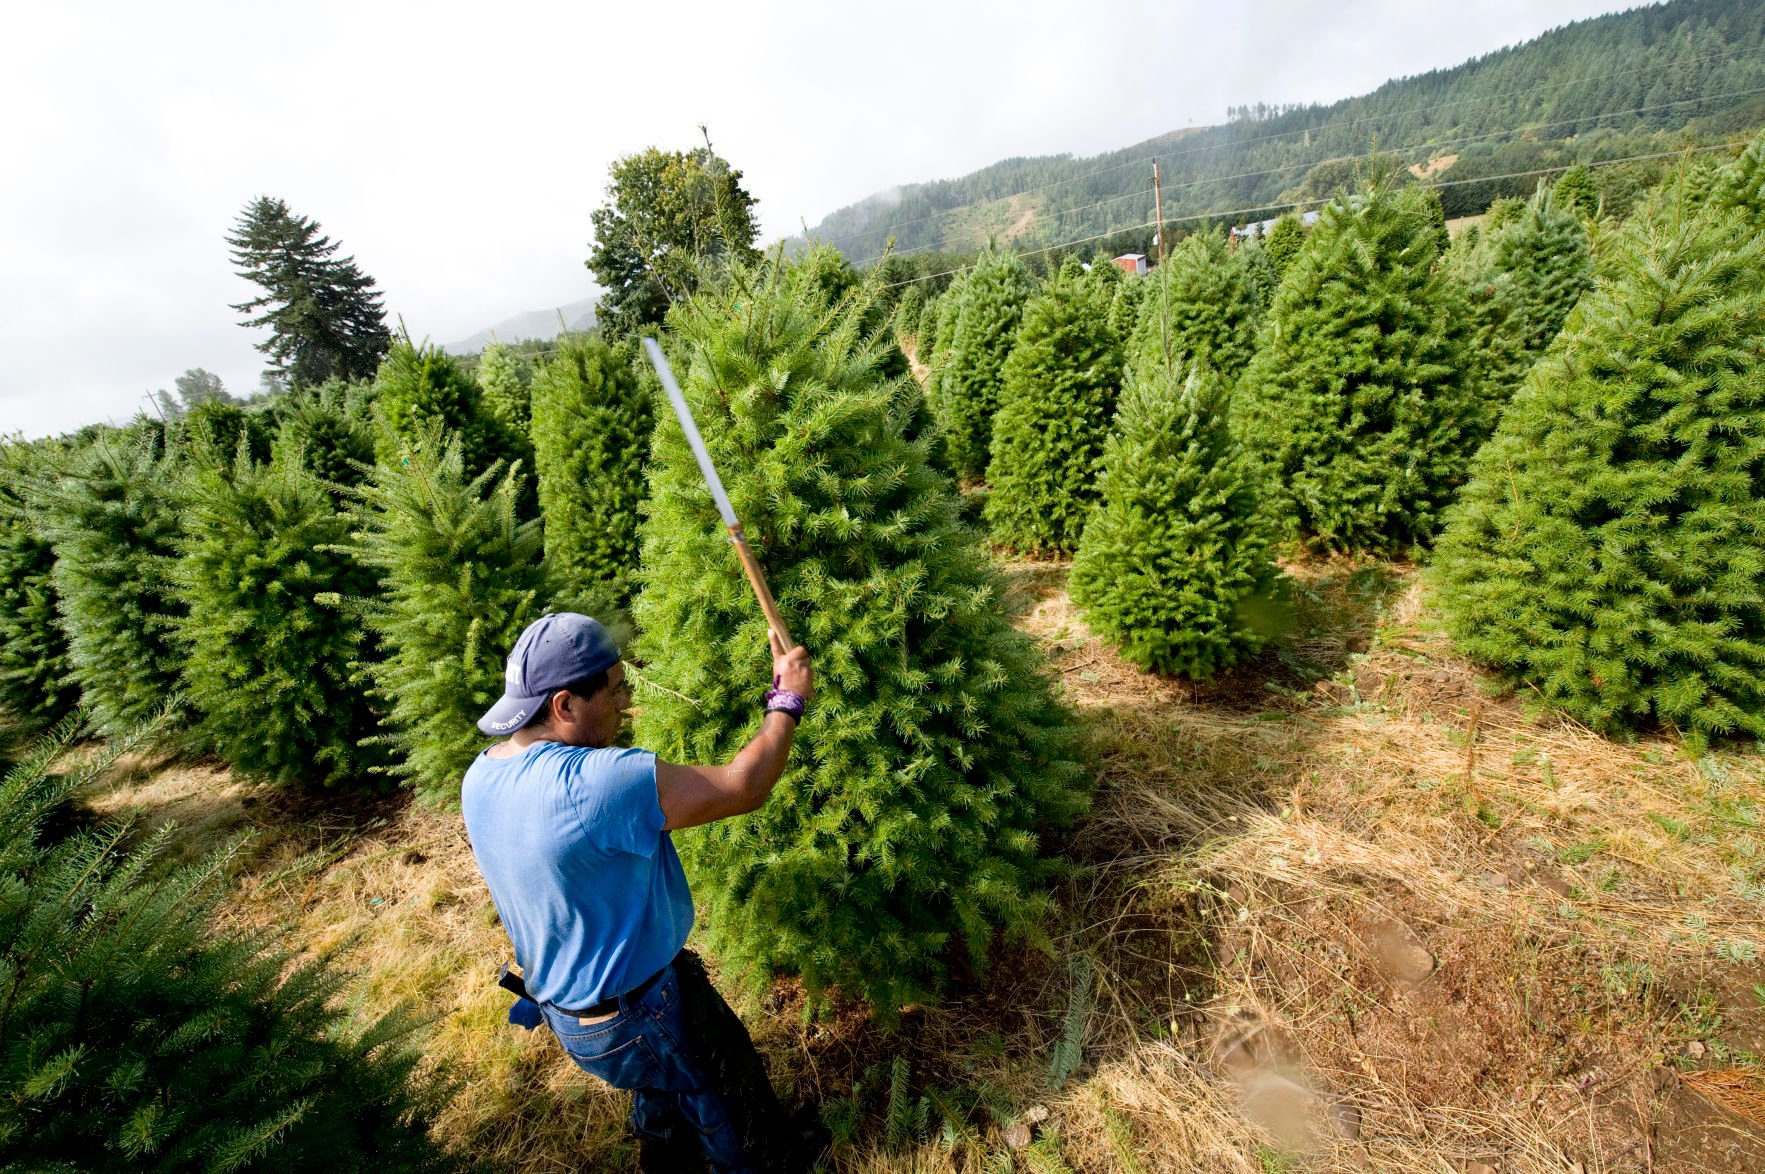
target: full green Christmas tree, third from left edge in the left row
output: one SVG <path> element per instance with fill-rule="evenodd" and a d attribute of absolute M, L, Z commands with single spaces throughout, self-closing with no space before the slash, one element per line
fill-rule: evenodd
<path fill-rule="evenodd" d="M 378 761 L 358 747 L 376 722 L 360 616 L 318 597 L 369 597 L 374 579 L 339 549 L 348 517 L 298 455 L 242 454 L 185 478 L 182 696 L 196 740 L 244 773 L 337 786 Z"/>

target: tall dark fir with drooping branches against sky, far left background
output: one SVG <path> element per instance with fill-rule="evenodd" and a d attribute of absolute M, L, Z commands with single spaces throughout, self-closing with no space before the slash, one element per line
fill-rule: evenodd
<path fill-rule="evenodd" d="M 374 374 L 392 344 L 379 290 L 353 256 L 337 258 L 341 244 L 318 221 L 259 196 L 226 242 L 240 277 L 263 290 L 233 309 L 256 314 L 245 327 L 270 328 L 258 350 L 275 373 L 305 385 Z"/>

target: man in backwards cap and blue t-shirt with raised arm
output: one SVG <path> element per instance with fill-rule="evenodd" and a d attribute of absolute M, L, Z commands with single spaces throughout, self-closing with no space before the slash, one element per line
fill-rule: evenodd
<path fill-rule="evenodd" d="M 681 766 L 614 745 L 630 692 L 607 630 L 542 616 L 478 719 L 507 740 L 461 786 L 526 997 L 577 1065 L 632 1089 L 644 1170 L 706 1158 L 717 1170 L 791 1170 L 819 1148 L 785 1118 L 747 1029 L 685 950 L 692 893 L 669 839 L 755 810 L 784 773 L 814 681 L 808 653 L 768 636 L 773 689 L 759 733 L 727 766 Z"/>

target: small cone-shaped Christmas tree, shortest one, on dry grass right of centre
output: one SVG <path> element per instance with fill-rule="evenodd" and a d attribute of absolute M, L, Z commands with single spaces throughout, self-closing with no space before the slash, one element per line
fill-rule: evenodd
<path fill-rule="evenodd" d="M 1213 371 L 1130 376 L 1068 579 L 1085 623 L 1154 673 L 1205 678 L 1255 655 L 1280 581 L 1258 477 Z"/>

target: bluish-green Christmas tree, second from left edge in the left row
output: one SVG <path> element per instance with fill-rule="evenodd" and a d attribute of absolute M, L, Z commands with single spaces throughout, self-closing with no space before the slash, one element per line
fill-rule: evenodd
<path fill-rule="evenodd" d="M 184 667 L 175 466 L 152 427 L 101 434 L 56 464 L 39 482 L 37 528 L 55 547 L 72 681 L 94 726 L 116 734 L 159 713 Z"/>

